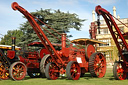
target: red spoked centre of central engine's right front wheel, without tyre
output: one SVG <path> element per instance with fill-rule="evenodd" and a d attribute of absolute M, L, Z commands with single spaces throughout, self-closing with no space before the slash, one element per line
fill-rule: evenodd
<path fill-rule="evenodd" d="M 78 63 L 74 62 L 71 65 L 70 73 L 73 80 L 78 80 L 80 77 L 80 66 Z"/>

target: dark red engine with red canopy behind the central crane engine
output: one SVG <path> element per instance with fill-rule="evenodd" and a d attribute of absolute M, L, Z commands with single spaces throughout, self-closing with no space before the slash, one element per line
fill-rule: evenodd
<path fill-rule="evenodd" d="M 49 53 L 45 48 L 43 48 L 44 46 L 41 42 L 32 42 L 28 44 L 28 46 L 42 48 L 38 51 L 23 50 L 20 52 L 19 59 L 26 65 L 27 74 L 31 78 L 42 77 L 42 74 L 40 73 L 40 61 L 44 57 L 44 55 Z"/>

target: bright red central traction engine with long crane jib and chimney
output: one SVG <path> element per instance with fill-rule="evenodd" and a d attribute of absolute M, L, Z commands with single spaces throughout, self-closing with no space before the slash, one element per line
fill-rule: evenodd
<path fill-rule="evenodd" d="M 16 2 L 12 3 L 12 8 L 13 10 L 20 11 L 28 19 L 37 36 L 49 52 L 49 54 L 45 55 L 40 62 L 40 71 L 42 74 L 45 73 L 45 76 L 48 79 L 55 80 L 60 75 L 66 74 L 68 79 L 78 80 L 80 76 L 84 75 L 86 72 L 90 72 L 92 76 L 99 78 L 105 75 L 106 59 L 102 53 L 95 51 L 95 47 L 91 43 L 88 44 L 85 40 L 84 42 L 79 41 L 86 49 L 78 49 L 74 47 L 73 44 L 67 47 L 66 34 L 57 32 L 58 35 L 62 36 L 62 49 L 55 50 L 47 36 L 44 34 L 42 30 L 44 28 L 37 24 L 36 20 L 40 21 L 38 18 L 31 15 Z M 40 22 L 43 23 L 42 21 Z M 48 28 L 50 27 L 48 26 Z M 77 40 L 76 44 L 79 44 Z"/>

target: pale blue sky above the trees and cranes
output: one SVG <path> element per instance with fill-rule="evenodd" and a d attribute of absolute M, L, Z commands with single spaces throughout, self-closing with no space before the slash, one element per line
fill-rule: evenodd
<path fill-rule="evenodd" d="M 116 7 L 120 18 L 128 18 L 128 0 L 0 0 L 0 34 L 6 34 L 8 30 L 19 29 L 20 24 L 26 21 L 23 15 L 11 8 L 12 2 L 18 2 L 29 12 L 42 9 L 60 9 L 63 12 L 76 13 L 83 22 L 81 31 L 71 30 L 72 39 L 89 38 L 89 25 L 92 21 L 92 10 L 97 5 L 113 14 L 113 6 Z M 0 35 L 0 37 L 2 37 Z"/>

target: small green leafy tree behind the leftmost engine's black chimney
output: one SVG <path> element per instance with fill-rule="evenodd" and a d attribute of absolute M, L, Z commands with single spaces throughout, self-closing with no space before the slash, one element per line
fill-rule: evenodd
<path fill-rule="evenodd" d="M 23 32 L 21 30 L 8 30 L 7 34 L 4 35 L 3 38 L 1 38 L 0 44 L 12 45 L 12 37 L 16 37 L 16 45 L 18 45 L 18 43 L 21 42 L 22 35 Z"/>

